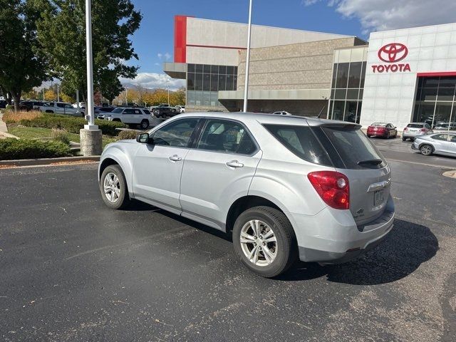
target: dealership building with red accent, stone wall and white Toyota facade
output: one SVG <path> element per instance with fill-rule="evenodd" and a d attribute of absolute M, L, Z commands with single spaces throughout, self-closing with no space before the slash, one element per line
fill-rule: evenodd
<path fill-rule="evenodd" d="M 252 26 L 252 112 L 367 126 L 456 123 L 456 24 L 356 36 Z M 172 78 L 186 80 L 187 110 L 243 106 L 247 25 L 175 16 Z"/>

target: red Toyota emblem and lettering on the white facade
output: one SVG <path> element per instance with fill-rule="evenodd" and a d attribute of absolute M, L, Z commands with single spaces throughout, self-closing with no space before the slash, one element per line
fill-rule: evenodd
<path fill-rule="evenodd" d="M 411 71 L 409 63 L 397 63 L 408 55 L 408 48 L 401 43 L 389 43 L 378 50 L 378 58 L 386 64 L 373 64 L 373 73 L 397 73 Z"/>

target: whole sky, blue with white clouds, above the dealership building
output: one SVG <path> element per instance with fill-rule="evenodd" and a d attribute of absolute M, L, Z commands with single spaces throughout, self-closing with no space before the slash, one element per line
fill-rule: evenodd
<path fill-rule="evenodd" d="M 249 0 L 132 0 L 142 13 L 141 27 L 131 37 L 140 58 L 135 80 L 123 83 L 165 88 L 163 61 L 172 61 L 174 16 L 247 23 Z M 455 0 L 253 0 L 253 24 L 358 36 L 371 31 L 455 22 Z M 432 15 L 430 15 L 432 14 Z M 183 86 L 171 80 L 170 88 Z"/>

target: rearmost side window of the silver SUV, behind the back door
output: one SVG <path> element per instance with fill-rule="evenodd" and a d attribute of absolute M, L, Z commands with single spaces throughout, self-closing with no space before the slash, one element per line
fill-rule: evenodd
<path fill-rule="evenodd" d="M 309 126 L 301 125 L 264 125 L 274 138 L 295 155 L 308 162 L 332 166 L 326 150 L 312 133 Z"/>

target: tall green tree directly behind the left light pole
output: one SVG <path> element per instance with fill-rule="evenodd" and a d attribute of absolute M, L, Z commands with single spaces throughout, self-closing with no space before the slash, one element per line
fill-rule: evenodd
<path fill-rule="evenodd" d="M 84 0 L 33 0 L 41 6 L 37 22 L 41 52 L 48 58 L 66 93 L 79 90 L 87 98 L 86 14 Z M 119 77 L 135 78 L 136 66 L 125 61 L 138 59 L 129 36 L 140 26 L 142 16 L 131 0 L 93 0 L 93 78 L 95 90 L 114 98 L 121 91 Z M 113 97 L 113 94 L 114 97 Z"/>

